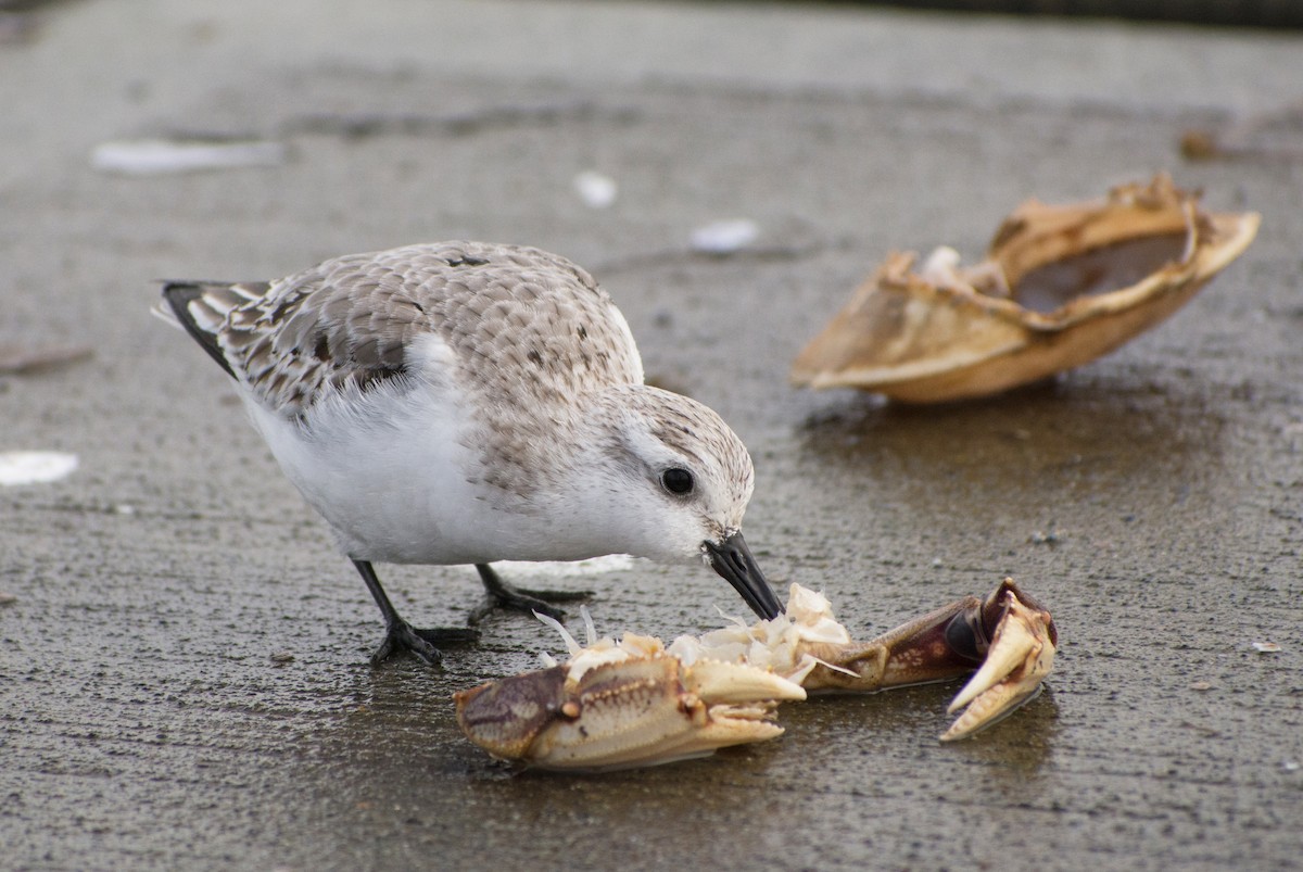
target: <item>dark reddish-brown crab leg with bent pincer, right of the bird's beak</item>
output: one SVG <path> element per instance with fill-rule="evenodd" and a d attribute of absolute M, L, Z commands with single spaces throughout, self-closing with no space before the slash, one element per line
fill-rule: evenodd
<path fill-rule="evenodd" d="M 985 600 L 964 597 L 866 643 L 809 644 L 821 662 L 808 691 L 877 691 L 973 674 L 950 704 L 968 706 L 942 734 L 969 736 L 1032 700 L 1054 662 L 1050 614 L 1005 579 Z"/>

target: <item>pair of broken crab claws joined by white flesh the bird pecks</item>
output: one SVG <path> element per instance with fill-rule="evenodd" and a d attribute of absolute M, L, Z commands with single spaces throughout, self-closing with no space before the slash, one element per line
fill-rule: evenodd
<path fill-rule="evenodd" d="M 943 742 L 1002 719 L 1040 691 L 1054 662 L 1054 622 L 1012 579 L 868 643 L 851 640 L 827 598 L 797 584 L 771 620 L 704 636 L 597 637 L 551 618 L 571 660 L 455 695 L 463 733 L 490 755 L 542 769 L 609 770 L 706 756 L 783 733 L 780 701 L 809 691 L 866 692 L 972 674 Z M 973 674 L 976 670 L 976 674 Z"/>

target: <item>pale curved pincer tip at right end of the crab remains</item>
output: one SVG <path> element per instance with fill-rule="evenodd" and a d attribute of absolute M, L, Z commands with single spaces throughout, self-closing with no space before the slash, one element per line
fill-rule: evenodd
<path fill-rule="evenodd" d="M 1025 705 L 1041 692 L 1041 682 L 1054 666 L 1054 622 L 1048 611 L 1023 602 L 1028 600 L 1006 580 L 982 607 L 1001 609 L 990 648 L 981 667 L 973 673 L 947 709 L 963 714 L 941 735 L 942 742 L 979 733 Z"/>

